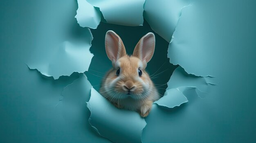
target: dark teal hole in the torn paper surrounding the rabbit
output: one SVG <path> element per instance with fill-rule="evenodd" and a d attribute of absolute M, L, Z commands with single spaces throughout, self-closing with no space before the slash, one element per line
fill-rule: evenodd
<path fill-rule="evenodd" d="M 101 22 L 97 29 L 91 29 L 94 38 L 90 51 L 94 54 L 94 57 L 92 58 L 88 72 L 85 72 L 85 74 L 92 86 L 96 90 L 99 90 L 101 80 L 105 73 L 112 68 L 112 63 L 108 59 L 105 51 L 105 35 L 108 30 L 115 31 L 121 37 L 128 55 L 132 55 L 137 42 L 139 42 L 142 36 L 148 32 L 155 34 L 155 53 L 150 62 L 148 62 L 146 71 L 150 76 L 153 75 L 151 79 L 157 87 L 159 94 L 164 95 L 167 88 L 166 83 L 177 66 L 170 64 L 167 58 L 169 43 L 155 33 L 146 20 L 144 20 L 143 26 L 120 26 Z"/>

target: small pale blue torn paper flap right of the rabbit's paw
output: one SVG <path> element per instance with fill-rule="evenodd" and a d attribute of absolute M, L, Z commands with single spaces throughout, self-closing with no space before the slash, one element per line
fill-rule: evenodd
<path fill-rule="evenodd" d="M 159 106 L 164 106 L 168 108 L 173 108 L 175 106 L 180 106 L 182 103 L 188 102 L 188 99 L 183 95 L 178 88 L 166 90 L 167 95 L 155 101 Z"/>

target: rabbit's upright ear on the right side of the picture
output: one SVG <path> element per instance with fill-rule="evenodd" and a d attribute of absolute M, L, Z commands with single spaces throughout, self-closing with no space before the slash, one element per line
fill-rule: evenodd
<path fill-rule="evenodd" d="M 149 62 L 155 51 L 155 35 L 148 33 L 144 35 L 135 46 L 133 56 L 141 59 L 142 62 Z"/>

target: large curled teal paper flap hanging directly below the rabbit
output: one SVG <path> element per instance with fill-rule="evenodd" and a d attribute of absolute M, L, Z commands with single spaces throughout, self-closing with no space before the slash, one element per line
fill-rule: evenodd
<path fill-rule="evenodd" d="M 146 122 L 137 112 L 116 108 L 94 88 L 87 106 L 91 111 L 89 122 L 101 136 L 115 143 L 141 142 Z"/>

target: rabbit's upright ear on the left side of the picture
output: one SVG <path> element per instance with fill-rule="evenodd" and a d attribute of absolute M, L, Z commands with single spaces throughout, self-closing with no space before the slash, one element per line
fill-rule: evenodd
<path fill-rule="evenodd" d="M 126 50 L 121 38 L 114 31 L 108 31 L 105 37 L 105 48 L 108 58 L 112 62 L 126 55 Z"/>

